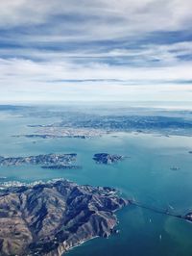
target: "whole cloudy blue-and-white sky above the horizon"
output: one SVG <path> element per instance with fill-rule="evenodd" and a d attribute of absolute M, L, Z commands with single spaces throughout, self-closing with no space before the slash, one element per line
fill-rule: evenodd
<path fill-rule="evenodd" d="M 0 0 L 0 104 L 192 101 L 191 0 Z"/>

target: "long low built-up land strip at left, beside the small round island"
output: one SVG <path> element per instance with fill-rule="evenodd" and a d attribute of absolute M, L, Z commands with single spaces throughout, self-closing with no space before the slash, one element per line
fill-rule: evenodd
<path fill-rule="evenodd" d="M 2 157 L 0 156 L 0 166 L 20 166 L 20 165 L 71 165 L 77 160 L 77 154 L 46 154 L 29 157 Z"/>

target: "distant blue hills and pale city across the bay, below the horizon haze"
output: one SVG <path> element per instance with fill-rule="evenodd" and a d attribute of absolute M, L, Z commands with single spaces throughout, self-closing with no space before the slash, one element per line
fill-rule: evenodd
<path fill-rule="evenodd" d="M 144 115 L 145 114 L 145 115 Z M 183 116 L 182 116 L 183 115 Z M 70 113 L 63 115 L 63 120 L 52 124 L 29 125 L 31 128 L 38 128 L 31 135 L 25 137 L 35 138 L 93 138 L 97 136 L 112 135 L 121 132 L 153 133 L 164 136 L 191 136 L 192 119 L 190 113 L 173 113 L 168 115 L 162 113 L 141 115 L 118 114 L 118 115 L 88 115 L 86 113 Z M 61 116 L 60 116 L 61 117 Z"/>

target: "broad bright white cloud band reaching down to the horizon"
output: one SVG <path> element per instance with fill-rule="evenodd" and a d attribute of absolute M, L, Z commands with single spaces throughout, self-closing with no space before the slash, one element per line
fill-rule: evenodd
<path fill-rule="evenodd" d="M 83 66 L 71 63 L 35 63 L 26 60 L 0 61 L 0 101 L 19 100 L 190 100 L 192 85 L 172 85 L 191 80 L 191 64 L 164 67 L 119 67 L 108 64 Z M 108 78 L 111 81 L 108 81 Z M 94 80 L 62 82 L 61 80 Z M 114 80 L 124 80 L 123 83 Z M 166 82 L 163 83 L 163 81 Z M 162 82 L 162 83 L 161 83 Z"/>

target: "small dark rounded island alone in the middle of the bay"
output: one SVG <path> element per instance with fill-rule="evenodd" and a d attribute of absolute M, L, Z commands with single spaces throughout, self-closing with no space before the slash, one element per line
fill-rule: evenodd
<path fill-rule="evenodd" d="M 126 157 L 122 155 L 111 155 L 108 153 L 98 153 L 93 156 L 96 164 L 111 165 L 124 160 Z"/>

